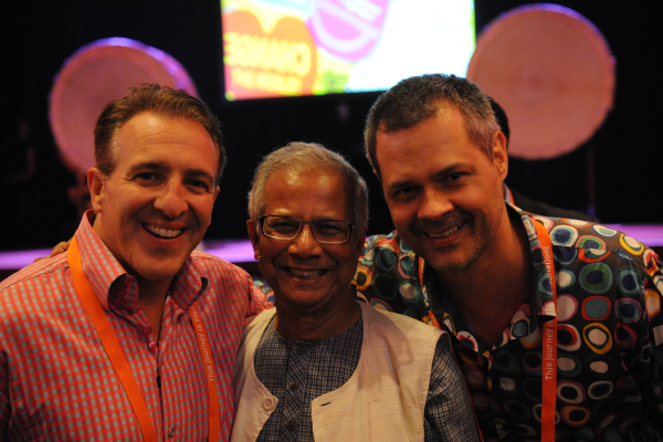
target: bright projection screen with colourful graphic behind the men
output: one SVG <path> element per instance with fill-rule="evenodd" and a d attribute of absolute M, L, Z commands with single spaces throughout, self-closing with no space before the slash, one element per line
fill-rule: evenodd
<path fill-rule="evenodd" d="M 383 91 L 465 76 L 472 0 L 221 0 L 229 101 Z"/>

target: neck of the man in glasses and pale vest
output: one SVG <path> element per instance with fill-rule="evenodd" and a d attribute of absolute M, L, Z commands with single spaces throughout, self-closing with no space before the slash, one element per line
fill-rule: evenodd
<path fill-rule="evenodd" d="M 334 306 L 299 307 L 284 305 L 275 294 L 276 332 L 288 340 L 316 341 L 347 332 L 361 318 L 354 290 Z"/>

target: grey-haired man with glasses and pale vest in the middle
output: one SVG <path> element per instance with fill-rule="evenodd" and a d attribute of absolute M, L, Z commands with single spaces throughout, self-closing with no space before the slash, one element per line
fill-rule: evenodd
<path fill-rule="evenodd" d="M 276 309 L 242 338 L 233 441 L 476 441 L 443 334 L 356 299 L 367 198 L 357 171 L 318 145 L 257 167 L 249 235 Z"/>

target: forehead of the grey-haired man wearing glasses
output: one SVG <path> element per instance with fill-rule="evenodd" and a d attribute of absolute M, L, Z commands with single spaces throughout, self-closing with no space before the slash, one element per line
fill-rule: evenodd
<path fill-rule="evenodd" d="M 349 186 L 333 170 L 280 170 L 265 183 L 266 210 L 292 211 L 293 215 L 336 212 L 347 215 L 350 206 Z"/>

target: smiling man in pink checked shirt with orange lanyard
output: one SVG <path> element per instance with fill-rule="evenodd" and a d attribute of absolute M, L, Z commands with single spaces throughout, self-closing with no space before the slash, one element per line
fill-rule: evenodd
<path fill-rule="evenodd" d="M 192 252 L 225 162 L 219 123 L 143 85 L 95 128 L 93 210 L 66 254 L 0 284 L 0 441 L 227 440 L 242 270 Z"/>

